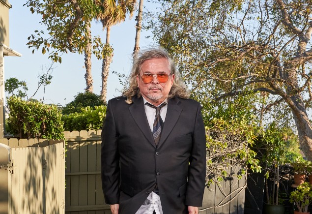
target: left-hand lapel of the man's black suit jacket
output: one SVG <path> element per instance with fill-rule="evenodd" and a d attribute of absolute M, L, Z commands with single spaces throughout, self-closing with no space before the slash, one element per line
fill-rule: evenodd
<path fill-rule="evenodd" d="M 134 97 L 132 101 L 133 104 L 129 106 L 129 111 L 133 119 L 138 124 L 139 128 L 141 129 L 147 140 L 153 145 L 153 147 L 156 148 L 155 141 L 146 118 L 143 98 Z"/>

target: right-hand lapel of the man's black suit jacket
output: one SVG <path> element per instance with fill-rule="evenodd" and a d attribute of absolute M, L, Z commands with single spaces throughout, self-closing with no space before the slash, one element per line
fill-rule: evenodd
<path fill-rule="evenodd" d="M 176 97 L 173 97 L 168 100 L 168 108 L 166 119 L 164 122 L 164 127 L 158 142 L 158 148 L 164 143 L 164 141 L 169 136 L 170 132 L 172 131 L 175 123 L 178 121 L 180 114 L 182 112 L 181 107 L 178 105 L 180 100 Z"/>

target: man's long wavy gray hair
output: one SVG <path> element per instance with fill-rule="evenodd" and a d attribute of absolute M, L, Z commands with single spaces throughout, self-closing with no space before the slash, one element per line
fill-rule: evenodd
<path fill-rule="evenodd" d="M 134 58 L 131 74 L 129 75 L 128 78 L 128 88 L 122 92 L 122 95 L 127 97 L 126 102 L 128 104 L 132 103 L 133 96 L 135 95 L 137 95 L 138 97 L 141 96 L 141 92 L 137 83 L 137 75 L 140 74 L 143 62 L 150 59 L 160 59 L 160 58 L 165 58 L 168 60 L 170 66 L 170 74 L 174 74 L 174 80 L 168 98 L 178 96 L 187 99 L 190 97 L 190 92 L 187 90 L 186 85 L 183 83 L 180 77 L 180 73 L 176 70 L 175 64 L 170 58 L 168 52 L 164 48 L 160 47 L 149 48 L 140 51 L 139 54 Z"/>

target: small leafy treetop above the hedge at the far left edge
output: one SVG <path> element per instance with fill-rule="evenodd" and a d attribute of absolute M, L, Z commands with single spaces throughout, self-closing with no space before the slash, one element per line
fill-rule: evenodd
<path fill-rule="evenodd" d="M 27 95 L 28 88 L 25 81 L 19 81 L 16 77 L 11 77 L 5 81 L 4 90 L 8 93 L 6 98 L 13 95 L 23 98 Z"/>

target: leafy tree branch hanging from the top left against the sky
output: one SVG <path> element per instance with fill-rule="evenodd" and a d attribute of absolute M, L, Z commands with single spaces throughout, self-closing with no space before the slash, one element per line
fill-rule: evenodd
<path fill-rule="evenodd" d="M 93 0 L 58 1 L 58 0 L 27 0 L 24 4 L 31 13 L 42 16 L 40 24 L 46 26 L 46 31 L 34 31 L 28 37 L 28 48 L 49 52 L 49 58 L 61 63 L 61 54 L 68 51 L 82 54 L 87 44 L 88 25 L 100 11 Z M 101 44 L 96 37 L 95 44 Z M 97 50 L 98 51 L 98 50 Z"/>

